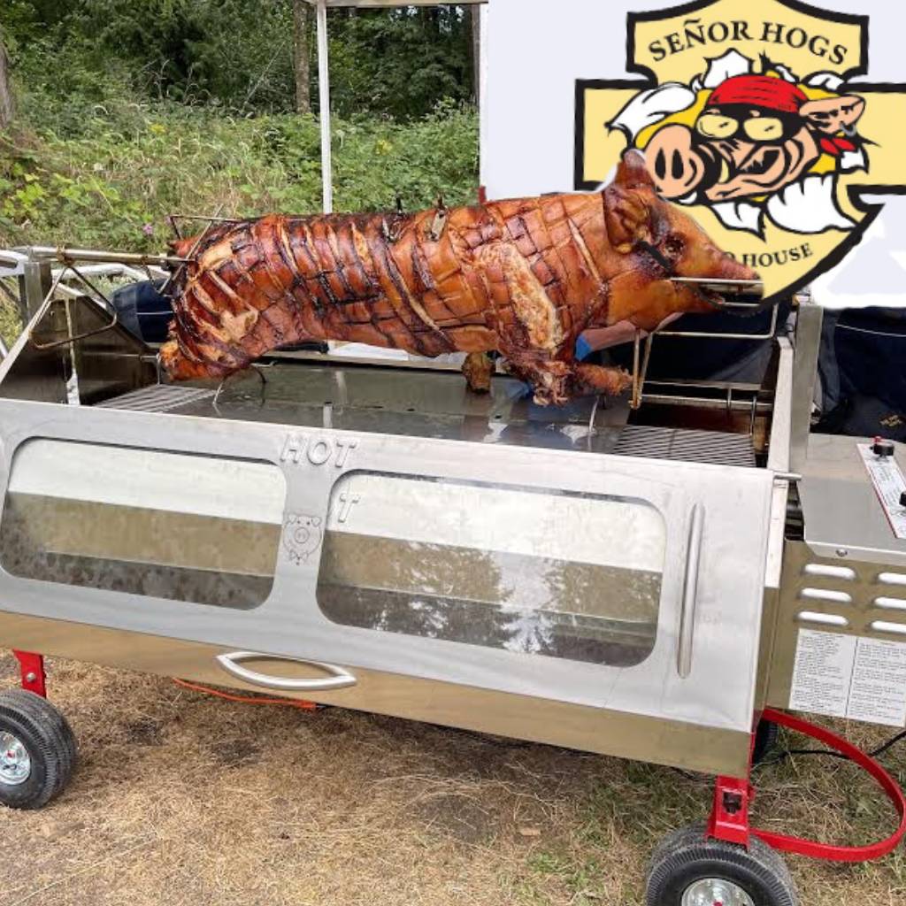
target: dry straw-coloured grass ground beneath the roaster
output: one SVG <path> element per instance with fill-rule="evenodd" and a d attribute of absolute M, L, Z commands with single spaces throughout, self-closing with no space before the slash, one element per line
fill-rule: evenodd
<path fill-rule="evenodd" d="M 81 765 L 43 812 L 4 812 L 4 906 L 637 904 L 654 845 L 702 818 L 710 795 L 707 779 L 667 768 L 51 670 Z M 0 655 L 0 684 L 15 677 Z M 906 746 L 885 761 L 906 780 Z M 766 826 L 857 843 L 893 824 L 836 761 L 800 758 L 758 781 Z M 791 865 L 809 906 L 906 903 L 902 851 Z"/>

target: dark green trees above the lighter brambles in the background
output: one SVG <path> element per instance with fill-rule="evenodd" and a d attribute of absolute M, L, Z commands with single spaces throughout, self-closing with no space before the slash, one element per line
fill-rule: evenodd
<path fill-rule="evenodd" d="M 469 21 L 458 6 L 332 10 L 334 111 L 410 120 L 470 101 Z M 292 0 L 4 0 L 0 30 L 20 85 L 53 108 L 65 99 L 63 131 L 120 96 L 294 110 Z M 316 110 L 313 34 L 309 44 Z"/>

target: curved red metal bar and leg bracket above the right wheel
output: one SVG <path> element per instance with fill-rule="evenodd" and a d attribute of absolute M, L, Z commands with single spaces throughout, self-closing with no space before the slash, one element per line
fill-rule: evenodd
<path fill-rule="evenodd" d="M 776 850 L 784 853 L 798 853 L 828 862 L 868 862 L 870 859 L 879 859 L 892 853 L 906 834 L 906 796 L 903 795 L 900 785 L 893 777 L 877 761 L 866 755 L 862 749 L 856 748 L 852 743 L 847 742 L 843 737 L 838 737 L 830 730 L 773 709 L 767 709 L 762 715 L 762 719 L 816 739 L 849 758 L 853 764 L 863 768 L 877 781 L 893 803 L 900 816 L 900 824 L 886 840 L 868 846 L 834 846 L 831 843 L 818 843 L 814 840 L 804 840 L 801 837 L 760 831 L 750 827 L 748 823 L 748 807 L 755 796 L 755 790 L 748 778 L 740 780 L 736 777 L 718 777 L 714 791 L 714 805 L 708 820 L 708 837 L 728 843 L 747 845 L 750 835 L 755 834 L 759 840 L 773 846 Z"/>

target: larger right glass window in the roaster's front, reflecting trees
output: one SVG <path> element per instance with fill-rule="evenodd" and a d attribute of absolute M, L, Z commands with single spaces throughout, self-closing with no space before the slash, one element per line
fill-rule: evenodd
<path fill-rule="evenodd" d="M 630 666 L 654 646 L 666 527 L 637 499 L 373 473 L 334 487 L 333 622 Z"/>

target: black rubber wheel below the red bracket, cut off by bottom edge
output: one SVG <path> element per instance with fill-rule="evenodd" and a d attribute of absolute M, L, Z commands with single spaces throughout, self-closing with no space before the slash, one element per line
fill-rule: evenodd
<path fill-rule="evenodd" d="M 752 838 L 749 848 L 708 840 L 704 824 L 670 834 L 651 859 L 647 906 L 798 906 L 778 853 Z"/>

